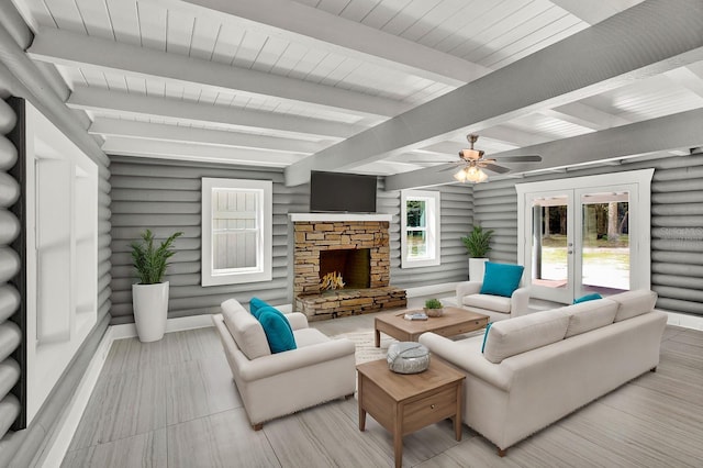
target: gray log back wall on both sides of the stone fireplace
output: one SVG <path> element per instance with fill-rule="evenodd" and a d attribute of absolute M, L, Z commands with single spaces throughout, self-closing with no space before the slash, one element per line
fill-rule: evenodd
<path fill-rule="evenodd" d="M 243 168 L 159 159 L 111 157 L 112 185 L 112 321 L 134 321 L 132 283 L 135 282 L 130 243 L 148 227 L 157 238 L 176 231 L 185 235 L 174 244 L 176 255 L 167 271 L 170 281 L 169 317 L 211 314 L 220 303 L 235 298 L 246 303 L 253 296 L 272 304 L 291 303 L 292 258 L 289 253 L 288 213 L 309 211 L 309 185 L 286 187 L 281 169 Z M 271 281 L 200 286 L 201 177 L 264 179 L 274 181 L 274 279 Z M 460 281 L 468 263 L 460 237 L 471 224 L 471 191 L 468 187 L 443 187 L 442 266 L 400 268 L 400 191 L 378 189 L 378 212 L 393 215 L 391 222 L 391 282 L 411 288 Z"/>

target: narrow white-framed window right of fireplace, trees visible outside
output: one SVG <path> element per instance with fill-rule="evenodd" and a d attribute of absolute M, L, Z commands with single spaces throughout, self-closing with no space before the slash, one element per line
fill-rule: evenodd
<path fill-rule="evenodd" d="M 439 192 L 401 192 L 402 268 L 439 265 Z"/>

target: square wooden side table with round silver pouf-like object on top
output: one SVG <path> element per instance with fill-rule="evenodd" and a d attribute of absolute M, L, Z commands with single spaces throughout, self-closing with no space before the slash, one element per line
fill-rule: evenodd
<path fill-rule="evenodd" d="M 395 374 L 386 359 L 359 364 L 359 431 L 369 413 L 393 434 L 395 467 L 402 466 L 403 436 L 447 417 L 461 441 L 461 382 L 466 376 L 437 358 L 421 374 Z"/>

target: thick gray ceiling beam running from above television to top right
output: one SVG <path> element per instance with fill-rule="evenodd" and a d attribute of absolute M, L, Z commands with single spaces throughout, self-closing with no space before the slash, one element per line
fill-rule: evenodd
<path fill-rule="evenodd" d="M 701 31 L 700 0 L 646 1 L 291 165 L 286 183 L 305 183 L 312 169 L 353 169 L 699 62 Z"/>

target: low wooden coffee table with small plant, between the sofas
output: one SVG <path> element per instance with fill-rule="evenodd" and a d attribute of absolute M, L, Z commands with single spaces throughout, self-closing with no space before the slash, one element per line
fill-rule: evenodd
<path fill-rule="evenodd" d="M 427 320 L 405 320 L 406 313 L 421 312 L 406 310 L 378 315 L 373 321 L 376 347 L 381 345 L 381 332 L 399 342 L 416 342 L 425 332 L 434 332 L 442 336 L 456 336 L 462 333 L 481 330 L 488 325 L 489 316 L 459 308 L 444 308 L 444 315 L 431 316 Z"/>

